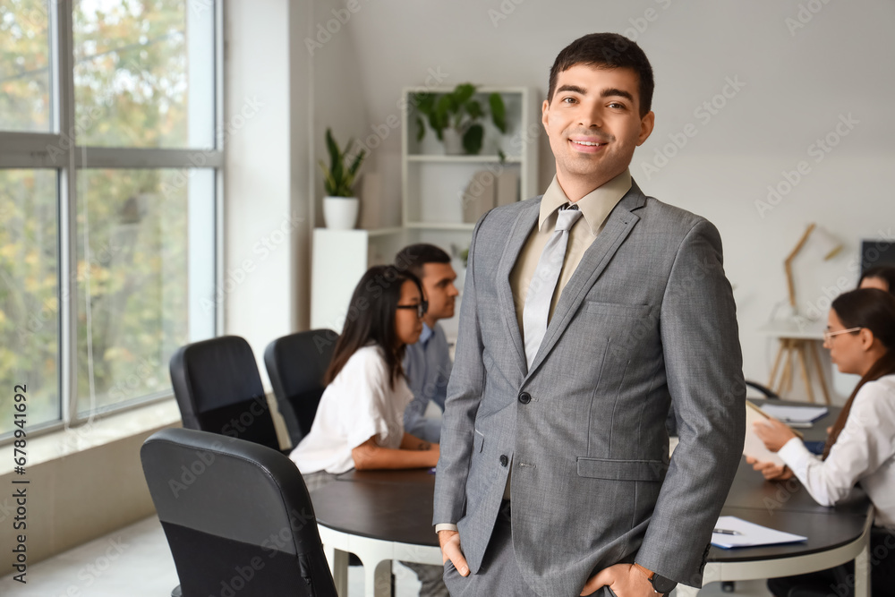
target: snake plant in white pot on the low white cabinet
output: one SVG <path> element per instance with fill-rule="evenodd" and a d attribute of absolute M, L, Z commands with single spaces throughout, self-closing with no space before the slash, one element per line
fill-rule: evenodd
<path fill-rule="evenodd" d="M 327 128 L 327 151 L 329 167 L 320 160 L 323 171 L 323 186 L 327 196 L 323 198 L 323 219 L 327 227 L 335 230 L 351 230 L 357 223 L 360 201 L 354 196 L 354 179 L 361 167 L 366 151 L 361 149 L 354 158 L 347 155 L 347 149 L 354 145 L 354 139 L 345 144 L 345 151 L 333 139 L 332 130 Z M 350 164 L 349 164 L 350 162 Z"/>

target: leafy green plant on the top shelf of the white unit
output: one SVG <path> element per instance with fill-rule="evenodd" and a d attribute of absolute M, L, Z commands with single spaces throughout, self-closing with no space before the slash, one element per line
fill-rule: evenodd
<path fill-rule="evenodd" d="M 485 130 L 478 121 L 486 112 L 475 98 L 477 87 L 472 83 L 460 83 L 449 93 L 423 92 L 414 94 L 416 106 L 416 140 L 426 134 L 423 116 L 429 122 L 439 141 L 445 144 L 448 155 L 477 155 L 482 150 Z M 500 132 L 507 132 L 507 107 L 499 93 L 488 96 L 491 122 Z"/>

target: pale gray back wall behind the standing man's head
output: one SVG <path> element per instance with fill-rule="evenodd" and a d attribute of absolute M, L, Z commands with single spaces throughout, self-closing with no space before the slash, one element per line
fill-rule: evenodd
<path fill-rule="evenodd" d="M 786 299 L 782 262 L 805 226 L 818 223 L 846 249 L 821 263 L 811 256 L 812 245 L 805 247 L 797 261 L 803 309 L 809 303 L 825 308 L 824 288 L 840 276 L 857 281 L 849 262 L 860 239 L 895 233 L 893 24 L 895 4 L 882 0 L 380 0 L 362 3 L 348 30 L 371 124 L 394 112 L 402 87 L 423 84 L 433 71 L 447 75 L 446 85 L 527 85 L 546 94 L 553 58 L 574 38 L 599 30 L 636 38 L 656 73 L 657 124 L 632 173 L 644 192 L 719 227 L 736 285 L 746 376 L 767 380 L 776 346 L 755 330 Z M 714 98 L 731 81 L 738 89 L 728 86 L 729 98 Z M 703 107 L 712 99 L 723 104 L 714 114 Z M 848 115 L 857 124 L 840 126 L 848 135 L 818 161 L 809 146 Z M 686 124 L 695 136 L 683 144 Z M 683 148 L 664 149 L 669 134 Z M 398 136 L 390 136 L 379 153 L 391 158 L 379 163 L 396 164 L 399 149 Z M 656 158 L 663 149 L 672 155 L 667 164 Z M 765 200 L 767 186 L 784 181 L 781 173 L 800 161 L 808 174 L 762 217 L 755 201 Z M 644 164 L 662 167 L 657 172 Z M 542 138 L 541 188 L 552 173 Z M 383 175 L 397 179 L 399 172 Z"/>

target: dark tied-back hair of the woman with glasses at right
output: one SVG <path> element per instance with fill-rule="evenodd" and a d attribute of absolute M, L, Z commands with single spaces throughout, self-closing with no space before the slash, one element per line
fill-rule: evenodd
<path fill-rule="evenodd" d="M 870 369 L 857 382 L 855 390 L 842 407 L 842 412 L 833 424 L 826 446 L 823 447 L 823 459 L 830 456 L 830 449 L 839 439 L 851 405 L 855 402 L 857 392 L 868 381 L 879 380 L 883 375 L 895 373 L 895 296 L 878 288 L 863 288 L 840 294 L 832 303 L 842 325 L 848 328 L 867 328 L 880 341 L 886 353 L 874 362 Z"/>

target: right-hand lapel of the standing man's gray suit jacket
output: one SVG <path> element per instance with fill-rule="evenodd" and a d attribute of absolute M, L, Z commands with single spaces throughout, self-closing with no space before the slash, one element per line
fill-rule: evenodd
<path fill-rule="evenodd" d="M 606 269 L 612 256 L 618 251 L 618 247 L 625 242 L 627 235 L 631 234 L 631 230 L 640 220 L 640 217 L 637 217 L 633 211 L 643 207 L 645 202 L 644 193 L 640 191 L 636 183 L 632 182 L 631 189 L 609 213 L 606 225 L 603 226 L 600 235 L 593 239 L 591 246 L 584 252 L 575 273 L 569 278 L 568 284 L 559 295 L 556 311 L 550 318 L 547 333 L 544 335 L 538 354 L 534 357 L 528 376 L 531 376 L 547 354 L 550 354 L 550 350 L 556 345 L 559 337 L 562 336 L 563 331 L 584 301 L 584 296 L 600 277 L 603 269 Z"/>

